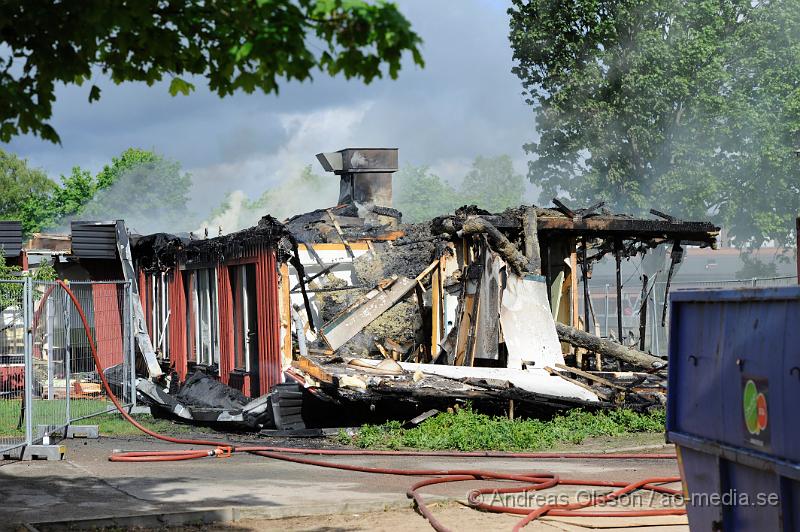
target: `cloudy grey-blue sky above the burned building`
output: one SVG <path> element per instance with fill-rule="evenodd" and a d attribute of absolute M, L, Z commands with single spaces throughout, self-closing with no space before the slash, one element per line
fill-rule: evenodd
<path fill-rule="evenodd" d="M 314 154 L 348 146 L 396 146 L 400 162 L 429 165 L 458 181 L 478 154 L 509 154 L 525 172 L 522 144 L 534 137 L 533 113 L 511 74 L 507 2 L 400 0 L 424 39 L 424 69 L 406 58 L 397 80 L 363 85 L 317 74 L 280 95 L 220 99 L 195 80 L 190 96 L 168 82 L 114 85 L 89 104 L 91 83 L 57 91 L 52 124 L 62 146 L 20 137 L 3 148 L 52 177 L 78 165 L 99 170 L 128 147 L 155 149 L 193 176 L 194 207 L 219 204 L 227 191 L 255 197 Z M 333 178 L 333 176 L 331 176 Z"/>

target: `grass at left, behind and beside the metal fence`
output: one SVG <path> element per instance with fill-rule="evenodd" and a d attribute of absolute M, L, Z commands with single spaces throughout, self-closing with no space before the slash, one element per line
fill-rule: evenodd
<path fill-rule="evenodd" d="M 95 399 L 70 400 L 70 410 L 73 418 L 103 411 L 106 409 L 107 405 L 110 405 L 110 403 Z M 0 400 L 0 438 L 24 436 L 24 425 L 21 429 L 17 429 L 21 406 L 22 401 L 20 399 Z M 65 407 L 65 401 L 35 399 L 33 405 L 34 428 L 36 425 L 62 425 L 65 419 Z M 204 427 L 184 425 L 166 419 L 154 418 L 149 415 L 136 414 L 133 418 L 151 430 L 168 434 L 212 431 Z M 128 423 L 118 412 L 98 414 L 85 420 L 78 421 L 77 423 L 98 425 L 100 434 L 104 436 L 133 436 L 142 434 L 139 429 Z"/>

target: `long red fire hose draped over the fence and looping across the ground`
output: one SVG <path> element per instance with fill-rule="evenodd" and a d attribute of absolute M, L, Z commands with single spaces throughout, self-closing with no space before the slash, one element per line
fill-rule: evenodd
<path fill-rule="evenodd" d="M 502 458 L 528 458 L 528 459 L 671 459 L 675 455 L 671 454 L 578 454 L 578 453 L 500 453 L 491 451 L 476 451 L 476 452 L 448 452 L 448 451 L 429 451 L 429 452 L 410 452 L 410 451 L 359 451 L 359 450 L 333 450 L 333 449 L 295 449 L 287 447 L 270 447 L 270 446 L 235 446 L 231 443 L 222 443 L 210 440 L 194 440 L 188 438 L 173 438 L 154 432 L 141 423 L 137 422 L 133 417 L 128 414 L 120 404 L 117 397 L 111 391 L 111 387 L 103 374 L 103 367 L 97 356 L 97 349 L 95 346 L 94 338 L 92 337 L 89 322 L 83 311 L 83 307 L 78 301 L 75 294 L 72 293 L 69 286 L 59 280 L 58 283 L 69 295 L 75 307 L 78 309 L 78 314 L 83 322 L 83 327 L 86 330 L 86 335 L 89 340 L 89 347 L 92 351 L 97 366 L 97 372 L 103 383 L 103 388 L 108 394 L 111 402 L 117 407 L 119 413 L 133 426 L 144 432 L 145 434 L 157 438 L 159 440 L 168 441 L 171 443 L 182 443 L 186 445 L 201 445 L 213 447 L 212 450 L 179 450 L 179 451 L 139 451 L 139 452 L 119 452 L 113 453 L 109 460 L 112 462 L 173 462 L 179 460 L 194 460 L 196 458 L 207 458 L 215 456 L 219 458 L 229 457 L 233 453 L 250 453 L 267 458 L 274 458 L 276 460 L 283 460 L 287 462 L 295 462 L 298 464 L 314 465 L 320 467 L 329 467 L 335 469 L 343 469 L 346 471 L 358 471 L 363 473 L 378 473 L 384 475 L 405 475 L 405 476 L 426 476 L 433 477 L 420 480 L 413 484 L 407 492 L 407 495 L 412 498 L 419 512 L 430 522 L 431 526 L 439 531 L 446 532 L 448 529 L 443 526 L 431 513 L 430 509 L 425 504 L 419 489 L 425 486 L 434 484 L 443 484 L 446 482 L 463 482 L 474 480 L 493 480 L 493 481 L 512 481 L 522 483 L 520 486 L 510 488 L 482 488 L 473 490 L 468 498 L 468 504 L 476 509 L 485 510 L 497 513 L 512 513 L 524 515 L 522 519 L 514 527 L 514 531 L 522 529 L 531 521 L 543 515 L 549 516 L 570 516 L 570 517 L 638 517 L 638 516 L 657 516 L 657 515 L 683 515 L 686 510 L 682 508 L 669 508 L 669 509 L 656 509 L 656 510 L 625 510 L 625 511 L 586 511 L 584 508 L 597 506 L 604 503 L 614 501 L 620 497 L 631 493 L 635 490 L 649 490 L 657 493 L 664 493 L 669 495 L 678 495 L 680 490 L 667 488 L 661 484 L 669 484 L 679 482 L 680 477 L 657 477 L 640 480 L 638 482 L 610 482 L 598 480 L 582 480 L 582 479 L 563 479 L 558 475 L 541 472 L 531 472 L 523 474 L 512 473 L 498 473 L 493 471 L 484 471 L 479 469 L 392 469 L 384 467 L 366 467 L 356 466 L 349 464 L 336 464 L 332 462 L 325 462 L 322 460 L 315 460 L 313 458 L 302 458 L 299 456 L 292 456 L 296 454 L 314 454 L 325 456 L 441 456 L 441 457 L 502 457 Z M 488 504 L 482 502 L 481 495 L 490 493 L 528 493 L 533 491 L 540 491 L 554 486 L 596 486 L 619 488 L 611 493 L 599 497 L 590 498 L 587 501 L 580 501 L 567 504 L 547 504 L 540 506 L 535 510 L 527 508 L 502 506 L 495 504 Z"/>

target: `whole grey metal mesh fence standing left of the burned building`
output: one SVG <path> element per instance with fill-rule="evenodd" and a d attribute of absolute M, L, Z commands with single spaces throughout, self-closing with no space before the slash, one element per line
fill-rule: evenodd
<path fill-rule="evenodd" d="M 73 282 L 101 368 L 75 304 L 57 283 L 0 280 L 0 453 L 65 434 L 74 422 L 114 410 L 100 382 L 135 401 L 131 286 Z"/>

